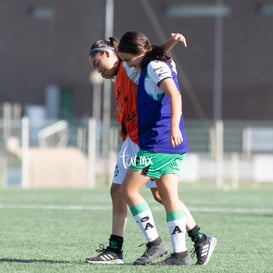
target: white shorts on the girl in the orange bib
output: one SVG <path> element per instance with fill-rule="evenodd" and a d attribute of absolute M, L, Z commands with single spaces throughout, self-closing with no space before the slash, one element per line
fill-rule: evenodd
<path fill-rule="evenodd" d="M 126 172 L 131 164 L 134 164 L 136 154 L 139 150 L 139 147 L 137 144 L 135 144 L 129 136 L 126 137 L 124 142 L 121 145 L 117 163 L 112 179 L 113 184 L 122 184 Z M 147 188 L 156 188 L 156 183 L 154 180 L 149 180 L 146 183 Z"/>

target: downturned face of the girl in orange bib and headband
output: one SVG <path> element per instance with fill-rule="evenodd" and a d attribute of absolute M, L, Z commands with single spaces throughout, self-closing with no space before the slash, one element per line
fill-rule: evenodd
<path fill-rule="evenodd" d="M 112 79 L 117 73 L 119 59 L 114 51 L 105 50 L 89 56 L 89 62 L 103 78 Z"/>

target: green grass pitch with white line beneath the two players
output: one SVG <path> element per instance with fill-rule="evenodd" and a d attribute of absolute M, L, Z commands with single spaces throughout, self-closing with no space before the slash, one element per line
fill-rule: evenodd
<path fill-rule="evenodd" d="M 108 188 L 0 189 L 0 272 L 273 272 L 273 185 L 242 185 L 238 191 L 210 184 L 181 184 L 181 199 L 208 235 L 218 238 L 207 266 L 133 266 L 144 237 L 129 214 L 125 265 L 90 265 L 99 244 L 108 243 Z M 147 197 L 161 237 L 170 245 L 163 207 Z M 189 251 L 191 241 L 187 239 Z M 194 262 L 195 260 L 192 259 Z"/>

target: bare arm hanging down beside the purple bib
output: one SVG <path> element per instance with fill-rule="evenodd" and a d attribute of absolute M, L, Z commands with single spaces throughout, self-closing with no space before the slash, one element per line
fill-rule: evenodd
<path fill-rule="evenodd" d="M 175 147 L 183 142 L 182 133 L 179 128 L 179 123 L 182 114 L 182 97 L 172 78 L 163 80 L 159 87 L 170 97 L 171 103 L 171 130 L 170 144 Z"/>

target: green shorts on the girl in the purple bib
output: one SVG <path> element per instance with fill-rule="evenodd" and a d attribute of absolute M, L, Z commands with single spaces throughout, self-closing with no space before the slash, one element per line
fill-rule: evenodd
<path fill-rule="evenodd" d="M 151 178 L 160 178 L 163 174 L 180 175 L 181 162 L 186 156 L 183 154 L 163 154 L 140 150 L 135 164 L 130 168 L 134 171 L 142 170 L 142 174 Z"/>

